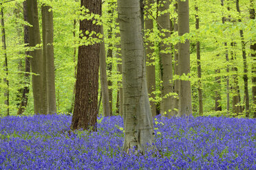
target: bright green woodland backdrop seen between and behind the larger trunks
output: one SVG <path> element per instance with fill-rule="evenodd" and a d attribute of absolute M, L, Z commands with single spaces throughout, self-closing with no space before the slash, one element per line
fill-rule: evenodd
<path fill-rule="evenodd" d="M 38 2 L 40 27 L 42 25 L 41 4 L 47 3 L 52 7 L 53 12 L 56 111 L 58 113 L 70 113 L 74 106 L 74 84 L 76 82 L 77 49 L 79 46 L 79 19 L 81 19 L 80 2 L 70 0 L 39 0 Z M 174 1 L 171 1 L 169 10 L 162 11 L 162 13 L 158 8 L 159 1 L 153 1 L 151 8 L 147 7 L 147 5 L 145 6 L 145 12 L 149 13 L 148 17 L 153 19 L 153 30 L 152 32 L 146 30 L 145 35 L 147 36 L 147 41 L 153 42 L 151 59 L 155 62 L 147 64 L 153 64 L 156 69 L 156 90 L 153 92 L 156 96 L 151 97 L 151 101 L 154 101 L 158 108 L 162 99 L 159 44 L 161 42 L 171 43 L 174 47 L 179 40 L 182 41 L 182 39 L 189 38 L 191 73 L 190 77 L 185 76 L 182 78 L 189 78 L 191 81 L 193 115 L 199 115 L 198 80 L 200 80 L 202 82 L 203 115 L 245 117 L 246 95 L 244 93 L 244 75 L 247 75 L 248 100 L 250 104 L 248 112 L 249 117 L 255 117 L 255 103 L 253 104 L 255 98 L 253 99 L 252 81 L 253 77 L 256 76 L 253 69 L 255 68 L 256 59 L 255 51 L 252 51 L 251 45 L 255 45 L 256 21 L 255 15 L 254 19 L 250 16 L 250 10 L 255 9 L 255 3 L 252 0 L 239 1 L 239 14 L 235 1 L 224 1 L 224 4 L 222 2 L 217 0 L 189 1 L 190 33 L 178 36 L 178 32 L 171 29 L 169 30 L 171 34 L 167 38 L 161 38 L 160 36 L 158 18 L 161 14 L 169 12 L 170 22 L 173 23 L 173 20 L 177 17 Z M 195 9 L 195 6 L 198 7 L 198 10 Z M 120 53 L 118 45 L 120 44 L 120 37 L 118 37 L 119 27 L 116 20 L 118 12 L 116 8 L 115 0 L 103 1 L 102 23 L 107 56 L 107 80 L 109 91 L 112 94 L 110 103 L 113 115 L 120 113 L 118 90 L 122 80 L 122 75 L 118 71 L 118 62 L 120 61 L 118 59 Z M 16 115 L 21 103 L 23 88 L 28 86 L 30 89 L 28 106 L 26 106 L 23 114 L 33 114 L 32 79 L 28 80 L 24 77 L 25 51 L 29 51 L 31 48 L 26 47 L 23 41 L 23 26 L 28 25 L 23 19 L 23 0 L 2 3 L 1 10 L 3 11 L 4 28 L 6 31 L 8 75 L 6 75 L 7 71 L 4 64 L 5 50 L 1 48 L 0 113 L 1 116 L 6 116 L 6 110 L 9 108 L 10 115 Z M 200 19 L 200 27 L 198 29 L 195 27 L 195 15 L 198 15 L 197 17 Z M 223 22 L 223 19 L 225 22 Z M 241 30 L 243 31 L 245 42 L 247 73 L 244 73 Z M 197 42 L 200 42 L 201 78 L 198 78 Z M 173 49 L 171 49 L 171 53 L 175 52 Z M 168 50 L 165 49 L 165 53 L 168 53 Z M 226 54 L 228 54 L 228 60 Z M 174 57 L 173 61 L 175 61 Z M 175 71 L 173 71 L 173 81 L 179 79 L 179 76 L 174 75 L 174 73 Z M 8 80 L 8 85 L 4 81 L 5 79 Z M 228 88 L 227 80 L 229 80 Z M 26 82 L 30 82 L 30 84 Z M 8 89 L 10 94 L 9 106 L 5 104 L 6 89 Z M 229 97 L 227 97 L 227 94 L 229 94 Z M 100 89 L 98 99 L 100 100 Z M 227 105 L 228 99 L 230 101 Z M 227 112 L 227 106 L 229 107 L 229 112 Z M 100 105 L 100 113 L 102 112 L 103 108 Z"/>

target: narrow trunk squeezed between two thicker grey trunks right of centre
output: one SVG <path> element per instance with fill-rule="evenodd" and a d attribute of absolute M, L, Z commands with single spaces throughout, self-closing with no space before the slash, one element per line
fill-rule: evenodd
<path fill-rule="evenodd" d="M 174 12 L 178 14 L 178 3 L 174 3 Z M 173 18 L 173 31 L 178 32 L 178 18 Z M 174 45 L 173 49 L 174 53 L 174 75 L 180 75 L 180 65 L 179 65 L 179 54 L 178 54 L 178 43 Z M 174 80 L 174 93 L 176 93 L 176 97 L 174 97 L 174 112 L 175 115 L 178 114 L 179 108 L 179 88 L 180 88 L 180 80 Z"/>

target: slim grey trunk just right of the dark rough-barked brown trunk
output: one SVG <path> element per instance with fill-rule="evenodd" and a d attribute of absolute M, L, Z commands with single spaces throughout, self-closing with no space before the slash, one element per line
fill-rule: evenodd
<path fill-rule="evenodd" d="M 103 114 L 105 117 L 109 117 L 110 116 L 109 90 L 107 88 L 106 53 L 105 53 L 103 25 L 101 25 L 100 27 L 100 34 L 103 34 L 103 42 L 101 42 L 100 44 L 100 84 L 101 84 L 101 93 L 103 96 Z"/>

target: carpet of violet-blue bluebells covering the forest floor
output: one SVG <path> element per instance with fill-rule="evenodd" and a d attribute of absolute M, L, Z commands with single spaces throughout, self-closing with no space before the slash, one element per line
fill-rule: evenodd
<path fill-rule="evenodd" d="M 154 120 L 158 152 L 125 154 L 121 117 L 71 132 L 72 117 L 0 118 L 0 169 L 256 169 L 256 119 Z"/>

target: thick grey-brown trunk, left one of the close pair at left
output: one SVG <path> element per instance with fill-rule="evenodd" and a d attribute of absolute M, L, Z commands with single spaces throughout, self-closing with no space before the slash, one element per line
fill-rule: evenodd
<path fill-rule="evenodd" d="M 37 11 L 37 1 L 27 0 L 28 4 L 28 23 L 33 25 L 33 27 L 28 27 L 28 38 L 30 42 L 30 47 L 35 48 L 33 51 L 30 51 L 32 56 L 30 60 L 31 69 L 32 69 L 32 89 L 34 96 L 34 113 L 43 114 L 43 102 L 45 97 L 42 97 L 43 93 L 43 55 L 42 49 L 39 47 L 41 45 L 41 36 L 39 30 L 39 17 Z"/>

